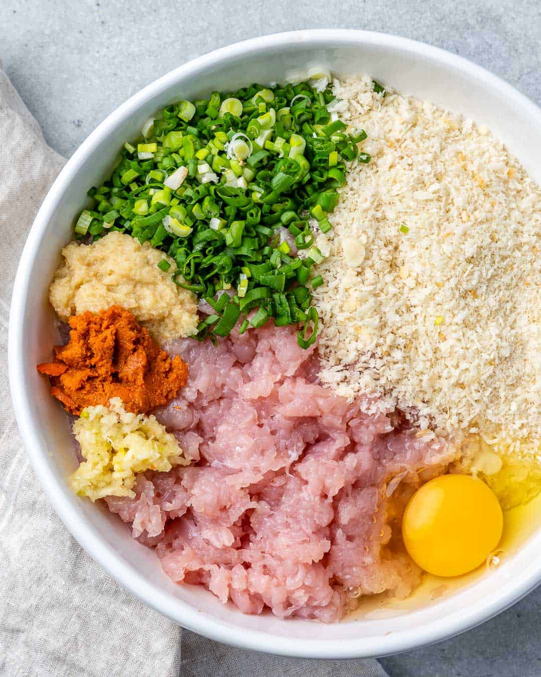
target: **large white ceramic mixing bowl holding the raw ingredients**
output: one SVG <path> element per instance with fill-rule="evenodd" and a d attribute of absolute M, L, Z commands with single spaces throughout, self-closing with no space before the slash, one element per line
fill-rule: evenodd
<path fill-rule="evenodd" d="M 283 81 L 291 68 L 327 64 L 337 76 L 370 74 L 402 93 L 462 112 L 488 125 L 541 182 L 541 111 L 483 68 L 403 38 L 357 30 L 306 30 L 218 49 L 173 70 L 115 110 L 69 160 L 43 202 L 22 253 L 9 319 L 9 377 L 19 429 L 51 504 L 89 554 L 126 590 L 185 628 L 220 642 L 299 657 L 385 655 L 450 637 L 502 611 L 541 580 L 541 531 L 490 575 L 469 580 L 440 601 L 419 600 L 387 617 L 324 626 L 271 615 L 247 616 L 201 587 L 177 586 L 154 552 L 133 540 L 116 515 L 66 486 L 74 471 L 68 419 L 35 365 L 57 340 L 47 288 L 72 237 L 85 194 L 108 173 L 124 140 L 156 110 L 212 89 Z M 415 602 L 415 598 L 414 598 Z"/>

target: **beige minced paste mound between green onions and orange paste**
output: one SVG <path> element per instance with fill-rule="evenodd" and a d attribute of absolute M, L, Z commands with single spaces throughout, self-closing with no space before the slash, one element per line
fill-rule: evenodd
<path fill-rule="evenodd" d="M 93 244 L 70 242 L 62 256 L 49 300 L 64 322 L 121 305 L 160 341 L 195 334 L 197 298 L 174 284 L 177 265 L 149 242 L 114 231 Z M 170 265 L 166 272 L 158 268 L 162 259 Z"/>

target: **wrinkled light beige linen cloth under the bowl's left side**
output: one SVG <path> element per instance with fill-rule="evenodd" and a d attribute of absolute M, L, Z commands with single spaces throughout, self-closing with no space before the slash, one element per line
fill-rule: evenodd
<path fill-rule="evenodd" d="M 218 645 L 124 592 L 70 536 L 24 453 L 7 320 L 34 215 L 64 159 L 0 70 L 0 674 L 6 677 L 385 677 L 377 661 L 300 661 Z"/>

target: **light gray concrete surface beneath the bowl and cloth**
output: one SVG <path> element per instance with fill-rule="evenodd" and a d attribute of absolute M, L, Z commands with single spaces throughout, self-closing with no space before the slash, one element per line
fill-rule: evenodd
<path fill-rule="evenodd" d="M 49 144 L 69 156 L 174 66 L 249 37 L 322 27 L 444 47 L 541 104 L 539 0 L 0 0 L 0 60 Z M 392 677 L 538 677 L 540 638 L 538 590 L 467 634 L 381 662 Z"/>

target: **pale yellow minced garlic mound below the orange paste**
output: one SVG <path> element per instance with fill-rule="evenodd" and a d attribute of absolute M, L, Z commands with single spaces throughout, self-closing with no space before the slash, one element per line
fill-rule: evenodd
<path fill-rule="evenodd" d="M 152 414 L 126 412 L 120 397 L 110 406 L 87 407 L 73 424 L 73 432 L 86 459 L 70 477 L 80 496 L 95 501 L 104 496 L 128 496 L 137 473 L 167 473 L 173 466 L 189 465 L 177 439 Z"/>

